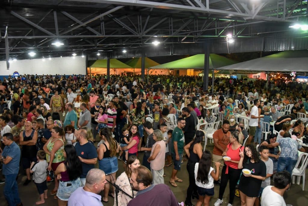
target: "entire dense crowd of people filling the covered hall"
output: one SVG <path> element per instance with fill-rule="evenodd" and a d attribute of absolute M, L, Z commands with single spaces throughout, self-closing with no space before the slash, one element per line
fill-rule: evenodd
<path fill-rule="evenodd" d="M 236 188 L 241 205 L 260 205 L 261 196 L 262 206 L 285 205 L 283 193 L 308 136 L 306 116 L 297 118 L 308 111 L 307 85 L 216 78 L 212 94 L 211 85 L 202 88 L 202 80 L 163 75 L 151 75 L 147 83 L 138 75 L 4 78 L 0 183 L 8 204 L 22 205 L 16 182 L 21 169 L 23 185 L 33 179 L 37 187 L 36 204 L 45 203 L 47 180 L 52 180 L 49 194 L 58 205 L 102 205 L 111 196 L 114 205 L 175 206 L 165 178 L 169 186 L 183 187 L 178 171 L 187 161 L 185 205 L 193 205 L 192 198 L 198 206 L 209 205 L 214 184 L 220 185 L 214 205 L 223 204 L 228 182 L 228 206 Z M 249 118 L 248 126 L 237 116 Z M 203 151 L 207 127 L 197 130 L 197 125 L 218 117 L 213 151 Z M 266 128 L 272 134 L 264 140 L 262 123 L 272 121 L 274 126 Z M 117 176 L 119 162 L 125 171 Z M 164 168 L 172 164 L 166 177 Z"/>

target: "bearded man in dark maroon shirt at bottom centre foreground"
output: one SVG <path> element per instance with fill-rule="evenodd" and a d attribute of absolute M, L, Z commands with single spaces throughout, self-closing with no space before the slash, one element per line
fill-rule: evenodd
<path fill-rule="evenodd" d="M 132 172 L 130 183 L 133 190 L 138 191 L 128 206 L 178 206 L 178 202 L 166 184 L 152 185 L 152 174 L 148 168 L 140 166 Z M 68 205 L 71 206 L 71 205 Z"/>

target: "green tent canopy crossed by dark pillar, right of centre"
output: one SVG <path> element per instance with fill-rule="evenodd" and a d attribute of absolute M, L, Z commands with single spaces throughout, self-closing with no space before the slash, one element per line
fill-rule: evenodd
<path fill-rule="evenodd" d="M 236 64 L 237 61 L 230 60 L 224 56 L 210 54 L 209 68 L 216 69 L 230 64 Z M 169 68 L 169 69 L 204 69 L 204 54 L 189 56 L 184 59 L 160 64 L 151 68 Z"/>

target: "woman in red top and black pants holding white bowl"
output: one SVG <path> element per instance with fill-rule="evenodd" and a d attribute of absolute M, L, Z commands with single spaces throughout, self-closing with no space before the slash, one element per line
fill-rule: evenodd
<path fill-rule="evenodd" d="M 233 204 L 234 194 L 235 194 L 235 187 L 237 185 L 237 181 L 240 178 L 241 170 L 238 169 L 238 163 L 241 159 L 239 152 L 240 148 L 244 149 L 241 145 L 243 142 L 243 134 L 238 132 L 237 130 L 231 133 L 230 135 L 230 143 L 227 145 L 223 156 L 228 156 L 231 159 L 225 160 L 225 165 L 221 171 L 221 183 L 219 187 L 219 197 L 216 200 L 214 205 L 220 205 L 224 201 L 222 197 L 225 192 L 225 188 L 227 187 L 227 183 L 229 181 L 229 205 Z"/>

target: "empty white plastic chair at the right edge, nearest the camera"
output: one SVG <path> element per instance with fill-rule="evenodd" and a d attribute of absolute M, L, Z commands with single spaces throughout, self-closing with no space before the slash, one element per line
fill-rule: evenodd
<path fill-rule="evenodd" d="M 301 166 L 299 167 L 299 164 L 301 164 Z M 306 167 L 308 165 L 308 153 L 302 153 L 299 155 L 297 163 L 292 171 L 292 183 L 295 183 L 295 176 L 297 177 L 297 184 L 300 183 L 301 181 L 301 176 L 303 176 L 303 191 L 305 188 L 305 171 L 306 171 Z"/>

